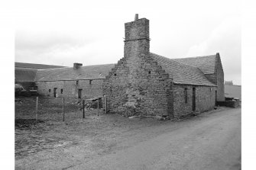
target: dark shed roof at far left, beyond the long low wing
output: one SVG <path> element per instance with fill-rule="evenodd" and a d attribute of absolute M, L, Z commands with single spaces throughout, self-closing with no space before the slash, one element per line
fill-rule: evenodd
<path fill-rule="evenodd" d="M 37 69 L 15 68 L 15 82 L 34 82 Z"/>

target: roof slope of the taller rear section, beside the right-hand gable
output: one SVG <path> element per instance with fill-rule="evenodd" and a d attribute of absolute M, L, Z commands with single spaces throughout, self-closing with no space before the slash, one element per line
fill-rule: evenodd
<path fill-rule="evenodd" d="M 183 59 L 173 59 L 180 63 L 184 63 L 190 66 L 195 66 L 201 69 L 204 74 L 213 74 L 215 72 L 215 60 L 216 55 L 211 56 L 196 56 Z"/>

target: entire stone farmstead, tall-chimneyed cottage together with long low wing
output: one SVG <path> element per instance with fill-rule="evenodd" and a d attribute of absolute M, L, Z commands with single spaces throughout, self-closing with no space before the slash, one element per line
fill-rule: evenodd
<path fill-rule="evenodd" d="M 219 53 L 170 59 L 150 52 L 149 20 L 125 23 L 124 57 L 117 64 L 37 70 L 38 93 L 51 97 L 105 96 L 103 108 L 117 114 L 182 117 L 225 101 Z M 105 100 L 104 100 L 105 101 Z"/>

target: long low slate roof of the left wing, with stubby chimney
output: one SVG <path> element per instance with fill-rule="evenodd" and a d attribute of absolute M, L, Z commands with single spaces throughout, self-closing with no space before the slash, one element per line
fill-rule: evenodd
<path fill-rule="evenodd" d="M 59 81 L 78 79 L 105 79 L 115 64 L 81 66 L 79 69 L 65 67 L 59 69 L 44 69 L 37 71 L 36 81 Z"/>

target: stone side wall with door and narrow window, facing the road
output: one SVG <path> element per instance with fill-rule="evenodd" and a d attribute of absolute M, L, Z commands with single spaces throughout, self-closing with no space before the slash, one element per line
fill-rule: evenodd
<path fill-rule="evenodd" d="M 183 117 L 192 113 L 193 87 L 196 88 L 196 113 L 212 110 L 215 106 L 216 87 L 173 85 L 174 117 Z M 187 88 L 187 103 L 185 103 L 185 88 Z"/>

